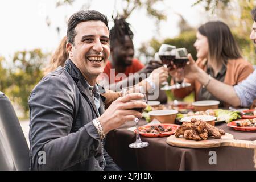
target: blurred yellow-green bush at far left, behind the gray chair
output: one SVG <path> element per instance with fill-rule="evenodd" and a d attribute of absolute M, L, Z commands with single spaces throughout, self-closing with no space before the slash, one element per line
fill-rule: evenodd
<path fill-rule="evenodd" d="M 13 67 L 0 72 L 5 72 L 6 84 L 4 92 L 10 100 L 18 104 L 25 114 L 28 114 L 28 96 L 32 89 L 43 77 L 42 67 L 46 63 L 47 55 L 40 49 L 32 51 L 18 51 L 14 53 L 11 64 Z"/>

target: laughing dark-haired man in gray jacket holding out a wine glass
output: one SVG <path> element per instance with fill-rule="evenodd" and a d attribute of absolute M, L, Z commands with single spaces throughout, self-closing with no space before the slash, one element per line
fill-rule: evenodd
<path fill-rule="evenodd" d="M 69 59 L 32 90 L 30 169 L 118 170 L 104 150 L 106 134 L 141 113 L 134 101 L 119 97 L 104 111 L 104 89 L 96 84 L 109 57 L 108 19 L 98 11 L 79 11 L 68 20 Z"/>

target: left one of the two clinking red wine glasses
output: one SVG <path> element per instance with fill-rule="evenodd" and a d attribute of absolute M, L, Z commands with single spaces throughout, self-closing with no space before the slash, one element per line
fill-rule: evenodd
<path fill-rule="evenodd" d="M 163 63 L 163 67 L 169 68 L 170 71 L 174 69 L 174 67 L 172 66 L 172 61 L 175 59 L 175 49 L 175 46 L 162 44 L 158 51 L 158 56 Z M 162 84 L 164 86 L 161 88 L 161 90 L 172 89 L 172 86 L 170 86 L 167 81 L 164 81 Z"/>

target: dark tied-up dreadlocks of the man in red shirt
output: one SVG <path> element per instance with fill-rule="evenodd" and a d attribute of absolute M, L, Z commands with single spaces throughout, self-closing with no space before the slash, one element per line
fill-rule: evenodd
<path fill-rule="evenodd" d="M 130 24 L 126 22 L 125 18 L 116 17 L 113 18 L 113 20 L 114 27 L 110 30 L 110 49 L 114 47 L 115 41 L 121 44 L 125 43 L 125 35 L 129 36 L 129 38 L 133 40 L 133 32 L 129 27 Z"/>

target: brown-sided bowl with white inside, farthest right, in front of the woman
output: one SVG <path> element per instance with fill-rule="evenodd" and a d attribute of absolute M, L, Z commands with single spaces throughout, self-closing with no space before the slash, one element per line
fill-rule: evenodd
<path fill-rule="evenodd" d="M 192 106 L 195 111 L 206 111 L 207 109 L 218 109 L 219 104 L 220 101 L 207 100 L 193 102 Z"/>

